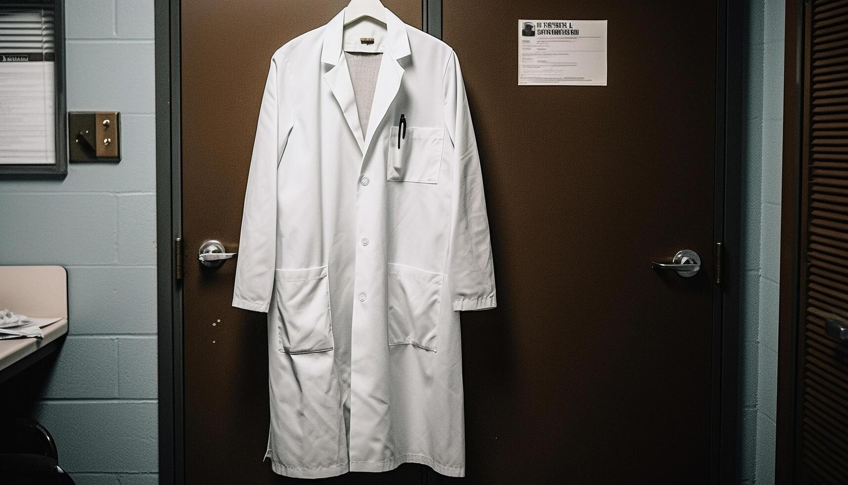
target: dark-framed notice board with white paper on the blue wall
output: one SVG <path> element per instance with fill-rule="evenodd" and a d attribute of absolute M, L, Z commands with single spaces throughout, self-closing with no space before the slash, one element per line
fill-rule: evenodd
<path fill-rule="evenodd" d="M 0 2 L 0 177 L 68 173 L 64 0 Z"/>

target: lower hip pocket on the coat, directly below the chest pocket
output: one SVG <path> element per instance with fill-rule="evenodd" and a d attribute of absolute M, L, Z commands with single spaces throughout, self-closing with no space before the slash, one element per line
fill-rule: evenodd
<path fill-rule="evenodd" d="M 388 263 L 388 345 L 436 352 L 442 305 L 440 273 Z"/>

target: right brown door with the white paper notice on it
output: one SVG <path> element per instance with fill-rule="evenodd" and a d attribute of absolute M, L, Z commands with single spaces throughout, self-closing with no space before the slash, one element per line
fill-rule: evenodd
<path fill-rule="evenodd" d="M 716 8 L 444 2 L 499 291 L 463 315 L 467 476 L 708 480 Z M 609 20 L 609 86 L 517 86 L 519 19 Z M 683 249 L 695 277 L 651 268 Z"/>

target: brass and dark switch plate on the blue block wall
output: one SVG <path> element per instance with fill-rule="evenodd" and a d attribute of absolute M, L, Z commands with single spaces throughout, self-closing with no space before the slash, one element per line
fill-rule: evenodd
<path fill-rule="evenodd" d="M 120 113 L 73 111 L 68 113 L 70 161 L 120 161 Z"/>

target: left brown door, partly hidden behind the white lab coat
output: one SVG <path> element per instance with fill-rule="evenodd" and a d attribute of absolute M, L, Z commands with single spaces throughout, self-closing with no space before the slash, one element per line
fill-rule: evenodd
<path fill-rule="evenodd" d="M 347 0 L 181 0 L 185 482 L 279 483 L 268 440 L 265 313 L 231 307 L 235 262 L 199 264 L 204 240 L 237 251 L 271 54 Z M 386 0 L 421 26 L 421 3 Z M 409 467 L 407 467 L 409 468 Z"/>

